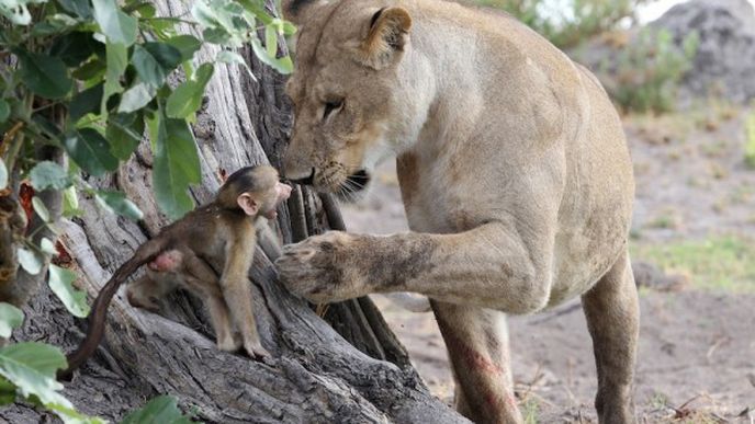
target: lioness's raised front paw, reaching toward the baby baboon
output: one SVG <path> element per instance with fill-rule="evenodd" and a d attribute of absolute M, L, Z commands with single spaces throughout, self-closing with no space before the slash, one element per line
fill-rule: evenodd
<path fill-rule="evenodd" d="M 329 231 L 284 247 L 275 261 L 281 282 L 294 295 L 316 303 L 363 295 L 359 238 Z"/>

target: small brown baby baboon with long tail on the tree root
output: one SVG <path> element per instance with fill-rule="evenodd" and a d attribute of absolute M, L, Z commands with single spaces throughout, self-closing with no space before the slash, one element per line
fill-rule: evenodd
<path fill-rule="evenodd" d="M 132 305 L 155 310 L 156 298 L 182 286 L 206 302 L 218 347 L 237 348 L 233 319 L 245 351 L 255 358 L 269 356 L 257 333 L 247 273 L 257 247 L 258 218 L 274 219 L 275 209 L 290 194 L 291 187 L 279 181 L 274 168 L 244 168 L 226 180 L 214 202 L 189 213 L 142 244 L 98 295 L 87 337 L 68 357 L 68 369 L 63 375 L 81 366 L 94 352 L 102 339 L 111 299 L 143 264 L 148 264 L 146 275 L 128 290 Z"/>

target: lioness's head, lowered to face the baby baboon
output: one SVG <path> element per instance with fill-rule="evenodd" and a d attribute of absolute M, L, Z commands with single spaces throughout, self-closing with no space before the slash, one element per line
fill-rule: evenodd
<path fill-rule="evenodd" d="M 408 93 L 398 78 L 412 19 L 381 0 L 283 1 L 300 27 L 285 91 L 295 124 L 288 179 L 342 197 L 364 188 L 405 133 Z"/>

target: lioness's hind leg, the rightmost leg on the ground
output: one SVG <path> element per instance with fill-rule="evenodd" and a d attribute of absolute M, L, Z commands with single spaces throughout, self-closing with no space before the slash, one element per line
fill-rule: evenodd
<path fill-rule="evenodd" d="M 582 306 L 598 370 L 598 420 L 601 424 L 634 423 L 632 381 L 640 309 L 628 253 L 582 297 Z"/>

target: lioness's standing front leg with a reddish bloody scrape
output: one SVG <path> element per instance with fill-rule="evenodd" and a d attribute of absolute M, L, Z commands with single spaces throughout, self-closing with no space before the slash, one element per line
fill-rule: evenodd
<path fill-rule="evenodd" d="M 521 423 L 509 369 L 506 316 L 431 300 L 454 379 L 454 406 L 475 423 Z"/>

